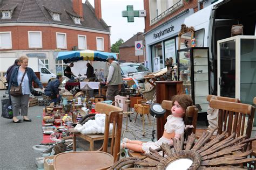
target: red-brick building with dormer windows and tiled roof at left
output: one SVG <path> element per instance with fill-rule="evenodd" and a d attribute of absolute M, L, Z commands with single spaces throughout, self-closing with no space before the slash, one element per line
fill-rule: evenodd
<path fill-rule="evenodd" d="M 110 26 L 102 19 L 101 1 L 1 0 L 0 58 L 21 55 L 41 59 L 51 72 L 66 65 L 59 51 L 110 52 Z"/>

